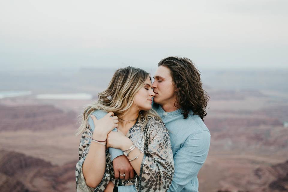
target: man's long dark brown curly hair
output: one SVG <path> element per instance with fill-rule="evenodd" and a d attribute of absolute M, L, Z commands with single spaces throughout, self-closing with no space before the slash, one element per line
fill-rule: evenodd
<path fill-rule="evenodd" d="M 177 101 L 174 105 L 182 108 L 184 119 L 187 119 L 189 111 L 192 110 L 193 115 L 198 115 L 204 121 L 210 97 L 202 89 L 200 73 L 195 64 L 185 57 L 167 57 L 158 63 L 159 66 L 170 69 L 173 84 L 177 89 Z"/>

